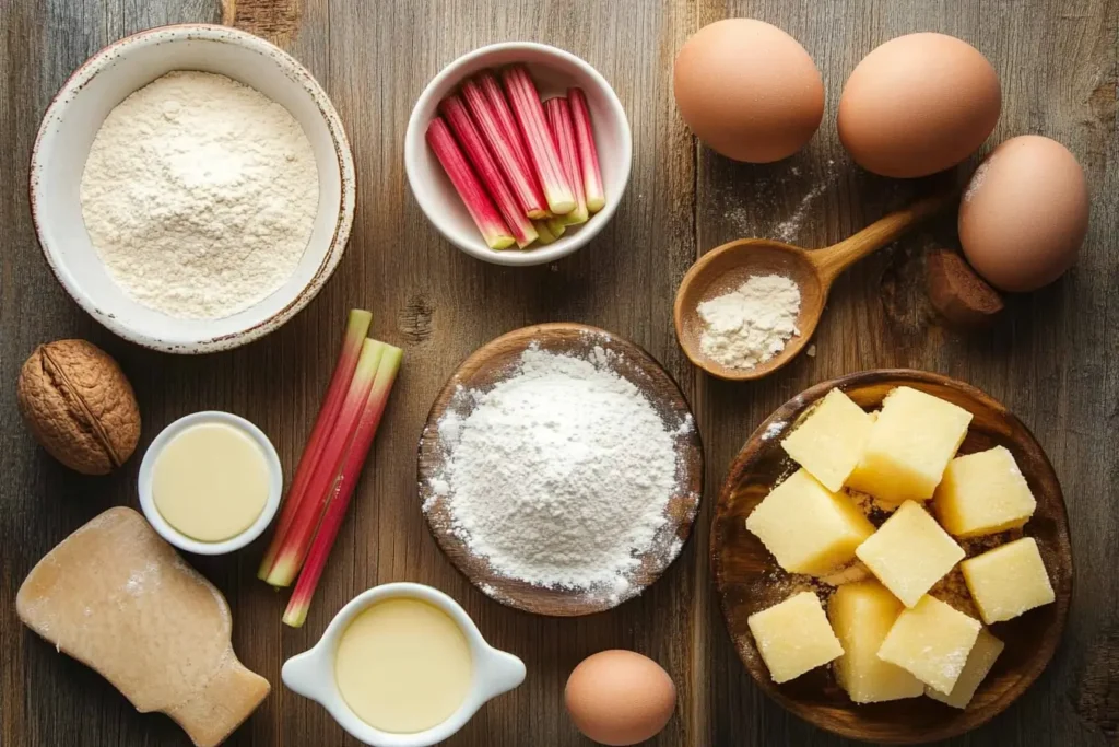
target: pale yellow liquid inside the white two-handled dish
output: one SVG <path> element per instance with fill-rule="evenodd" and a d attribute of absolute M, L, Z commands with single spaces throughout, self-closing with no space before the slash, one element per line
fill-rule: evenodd
<path fill-rule="evenodd" d="M 470 689 L 467 636 L 451 617 L 417 599 L 386 599 L 349 624 L 335 679 L 346 704 L 382 731 L 414 734 L 445 721 Z"/>

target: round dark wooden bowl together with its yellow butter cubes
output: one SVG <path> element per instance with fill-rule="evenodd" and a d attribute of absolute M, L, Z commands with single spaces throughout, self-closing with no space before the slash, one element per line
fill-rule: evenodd
<path fill-rule="evenodd" d="M 739 655 L 797 716 L 916 744 L 1003 711 L 1072 597 L 1061 486 L 1022 422 L 921 371 L 818 384 L 751 436 L 712 569 Z"/>

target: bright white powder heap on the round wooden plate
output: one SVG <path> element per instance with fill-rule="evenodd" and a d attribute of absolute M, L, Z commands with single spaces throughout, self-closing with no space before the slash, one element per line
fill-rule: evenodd
<path fill-rule="evenodd" d="M 445 501 L 453 531 L 496 572 L 622 597 L 653 549 L 677 491 L 675 441 L 694 423 L 666 426 L 614 356 L 529 348 L 490 391 L 459 392 L 464 415 L 439 422 L 445 471 L 425 510 Z"/>

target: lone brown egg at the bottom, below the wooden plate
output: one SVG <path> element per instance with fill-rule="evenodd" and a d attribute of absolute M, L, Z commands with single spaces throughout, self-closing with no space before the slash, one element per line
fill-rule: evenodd
<path fill-rule="evenodd" d="M 658 735 L 676 709 L 676 685 L 657 662 L 632 651 L 601 651 L 567 678 L 572 721 L 600 745 L 636 745 Z"/>

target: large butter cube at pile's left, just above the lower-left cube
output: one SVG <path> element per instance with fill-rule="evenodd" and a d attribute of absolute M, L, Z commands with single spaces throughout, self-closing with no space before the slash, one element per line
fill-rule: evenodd
<path fill-rule="evenodd" d="M 803 469 L 774 487 L 746 517 L 746 529 L 790 573 L 822 576 L 855 558 L 874 525 L 846 495 Z"/>

